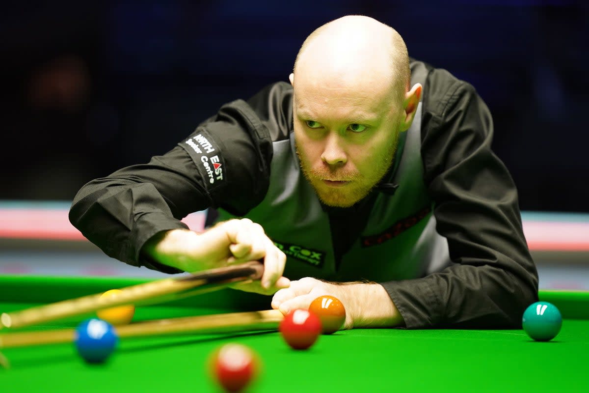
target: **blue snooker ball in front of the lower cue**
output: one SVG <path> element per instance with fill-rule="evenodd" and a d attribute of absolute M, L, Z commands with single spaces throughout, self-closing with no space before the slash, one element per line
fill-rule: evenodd
<path fill-rule="evenodd" d="M 102 319 L 80 323 L 75 332 L 75 347 L 88 363 L 102 363 L 114 352 L 118 336 L 114 327 Z"/>

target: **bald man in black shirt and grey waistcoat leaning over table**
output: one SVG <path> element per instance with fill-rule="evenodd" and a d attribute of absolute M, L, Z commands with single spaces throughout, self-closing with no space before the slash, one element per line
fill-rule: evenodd
<path fill-rule="evenodd" d="M 284 313 L 334 295 L 346 328 L 519 326 L 538 277 L 474 88 L 410 64 L 365 16 L 313 32 L 289 79 L 86 184 L 71 222 L 164 272 L 263 259 L 262 280 L 236 288 Z M 204 233 L 179 221 L 211 207 L 220 224 Z"/>

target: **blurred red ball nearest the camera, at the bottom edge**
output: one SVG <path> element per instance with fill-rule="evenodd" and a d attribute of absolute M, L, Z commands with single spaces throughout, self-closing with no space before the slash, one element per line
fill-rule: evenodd
<path fill-rule="evenodd" d="M 223 345 L 213 356 L 214 376 L 227 392 L 242 391 L 256 375 L 256 356 L 241 344 Z"/>

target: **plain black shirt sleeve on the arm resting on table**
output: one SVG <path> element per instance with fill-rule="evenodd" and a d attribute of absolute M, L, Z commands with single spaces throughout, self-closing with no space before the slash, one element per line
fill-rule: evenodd
<path fill-rule="evenodd" d="M 425 180 L 454 265 L 383 286 L 408 328 L 520 328 L 538 299 L 538 274 L 517 189 L 491 150 L 491 114 L 471 85 L 444 70 L 431 72 L 424 93 Z"/>

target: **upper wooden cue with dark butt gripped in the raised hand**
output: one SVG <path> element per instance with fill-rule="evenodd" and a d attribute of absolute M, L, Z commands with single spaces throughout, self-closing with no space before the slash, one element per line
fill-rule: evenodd
<path fill-rule="evenodd" d="M 43 306 L 36 306 L 22 311 L 2 313 L 0 315 L 0 330 L 3 328 L 23 328 L 54 321 L 55 319 L 98 311 L 104 308 L 135 304 L 141 300 L 149 300 L 167 296 L 166 301 L 173 300 L 173 296 L 181 296 L 180 292 L 188 289 L 200 288 L 191 295 L 211 292 L 225 288 L 230 283 L 245 280 L 256 280 L 262 277 L 263 265 L 259 262 L 247 262 L 241 265 L 219 267 L 204 270 L 189 276 L 154 280 L 138 285 L 121 288 L 121 293 L 115 296 L 102 296 L 102 293 L 82 296 L 81 298 L 62 300 Z"/>

